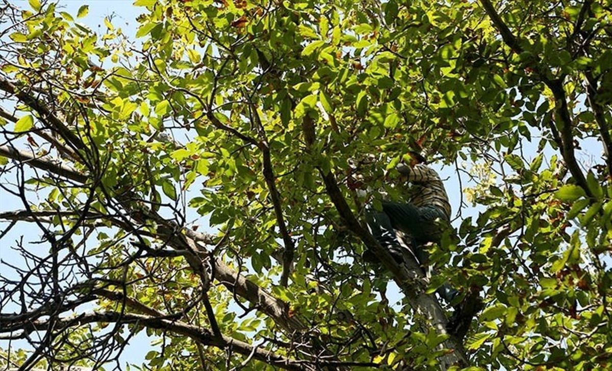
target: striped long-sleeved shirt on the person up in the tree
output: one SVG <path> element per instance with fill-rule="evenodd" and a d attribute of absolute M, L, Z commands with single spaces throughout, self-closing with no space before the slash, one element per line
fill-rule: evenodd
<path fill-rule="evenodd" d="M 446 195 L 442 179 L 435 170 L 423 164 L 408 167 L 400 164 L 397 171 L 403 181 L 411 183 L 408 189 L 408 201 L 414 206 L 437 206 L 450 220 L 449 196 Z"/>

